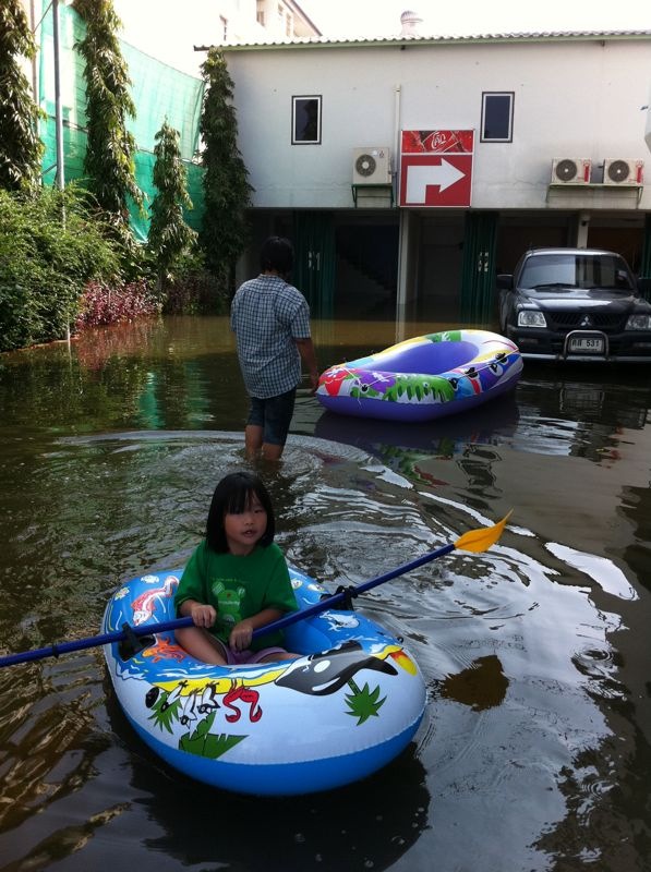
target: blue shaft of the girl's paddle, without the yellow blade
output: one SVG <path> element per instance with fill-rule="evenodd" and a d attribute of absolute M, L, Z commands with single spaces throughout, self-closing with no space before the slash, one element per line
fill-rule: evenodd
<path fill-rule="evenodd" d="M 290 611 L 289 615 L 285 615 L 282 618 L 254 630 L 253 638 L 256 639 L 260 635 L 265 635 L 266 633 L 274 632 L 275 630 L 282 630 L 292 623 L 297 623 L 304 618 L 311 617 L 312 615 L 318 615 L 322 611 L 327 611 L 328 608 L 338 606 L 340 603 L 346 602 L 350 596 L 358 596 L 360 593 L 370 591 L 372 588 L 376 588 L 378 584 L 384 584 L 385 581 L 390 581 L 398 576 L 402 576 L 405 572 L 410 572 L 412 569 L 418 569 L 419 566 L 429 564 L 431 560 L 436 560 L 437 557 L 443 557 L 454 549 L 455 545 L 444 545 L 443 547 L 437 548 L 435 552 L 430 552 L 429 554 L 424 554 L 422 557 L 417 557 L 415 560 L 411 560 L 409 564 L 405 564 L 397 569 L 391 569 L 390 572 L 385 572 L 384 576 L 377 576 L 377 578 L 365 581 L 363 584 L 358 584 L 357 586 L 351 586 L 347 590 L 340 591 L 339 593 L 335 593 L 331 596 L 327 596 L 325 600 L 321 600 L 318 603 L 314 603 L 312 606 L 308 606 L 308 608 L 302 608 L 299 611 Z M 148 635 L 149 633 L 164 633 L 168 630 L 179 630 L 182 627 L 192 626 L 192 618 L 185 617 L 161 621 L 160 623 L 140 623 L 137 626 L 131 626 L 129 631 L 133 632 L 134 635 Z M 124 630 L 116 630 L 114 632 L 110 633 L 91 635 L 87 639 L 79 639 L 74 642 L 61 642 L 58 645 L 49 645 L 48 647 L 38 647 L 34 649 L 33 651 L 25 651 L 22 654 L 7 654 L 5 656 L 0 657 L 0 667 L 13 666 L 17 663 L 31 663 L 32 661 L 40 661 L 45 657 L 58 657 L 60 654 L 68 654 L 71 651 L 84 651 L 87 647 L 109 645 L 113 642 L 122 642 L 124 639 L 126 639 L 126 632 L 124 632 Z"/>

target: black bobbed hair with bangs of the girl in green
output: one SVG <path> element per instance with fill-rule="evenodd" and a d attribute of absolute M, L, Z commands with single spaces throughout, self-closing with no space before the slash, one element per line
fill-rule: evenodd
<path fill-rule="evenodd" d="M 244 511 L 251 505 L 253 496 L 260 499 L 267 513 L 267 529 L 260 540 L 260 544 L 264 547 L 272 544 L 276 535 L 276 518 L 267 488 L 257 475 L 253 475 L 251 472 L 231 472 L 224 476 L 213 494 L 206 521 L 206 542 L 209 548 L 217 554 L 228 553 L 224 516 L 227 512 L 239 514 Z"/>

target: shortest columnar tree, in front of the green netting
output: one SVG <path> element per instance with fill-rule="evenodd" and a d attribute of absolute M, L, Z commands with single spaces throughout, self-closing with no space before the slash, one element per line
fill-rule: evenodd
<path fill-rule="evenodd" d="M 194 245 L 196 233 L 185 223 L 183 207 L 192 208 L 185 189 L 179 132 L 167 123 L 156 134 L 154 184 L 158 193 L 152 203 L 148 249 L 156 261 L 161 283 L 173 278 L 174 267 Z"/>

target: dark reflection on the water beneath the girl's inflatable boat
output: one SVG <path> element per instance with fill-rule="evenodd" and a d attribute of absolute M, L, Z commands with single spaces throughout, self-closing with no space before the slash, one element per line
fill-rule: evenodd
<path fill-rule="evenodd" d="M 170 777 L 112 702 L 109 714 L 130 748 L 131 787 L 143 794 L 138 815 L 160 831 L 148 838 L 154 856 L 144 869 L 158 869 L 160 856 L 183 865 L 190 861 L 200 868 L 213 863 L 210 868 L 258 869 L 264 845 L 264 869 L 383 870 L 427 827 L 430 796 L 413 743 L 363 784 L 303 798 L 251 799 Z"/>

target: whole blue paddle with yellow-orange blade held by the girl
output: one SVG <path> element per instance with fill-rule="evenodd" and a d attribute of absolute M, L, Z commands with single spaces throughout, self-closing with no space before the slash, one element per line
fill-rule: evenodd
<path fill-rule="evenodd" d="M 275 620 L 273 623 L 267 623 L 266 627 L 261 627 L 260 629 L 255 630 L 253 632 L 253 638 L 255 639 L 258 635 L 264 635 L 265 633 L 274 630 L 282 630 L 285 627 L 297 623 L 298 621 L 309 618 L 312 615 L 318 615 L 322 611 L 327 611 L 328 608 L 333 608 L 341 603 L 350 604 L 351 597 L 359 596 L 359 594 L 370 591 L 372 588 L 376 588 L 378 584 L 384 584 L 385 581 L 390 581 L 390 579 L 402 576 L 405 572 L 410 572 L 412 569 L 417 569 L 419 566 L 423 566 L 432 560 L 436 560 L 438 557 L 444 557 L 446 554 L 449 554 L 453 550 L 474 552 L 475 554 L 485 552 L 491 547 L 491 545 L 494 545 L 497 542 L 510 514 L 511 513 L 509 511 L 508 514 L 502 519 L 502 521 L 498 521 L 493 526 L 483 526 L 478 530 L 469 530 L 468 533 L 463 533 L 463 535 L 460 536 L 460 538 L 458 538 L 456 542 L 450 543 L 449 545 L 443 545 L 441 548 L 437 548 L 434 552 L 429 552 L 422 557 L 417 557 L 409 564 L 399 566 L 397 569 L 393 569 L 390 572 L 385 572 L 384 576 L 377 576 L 377 578 L 365 581 L 363 584 L 358 584 L 357 586 L 345 588 L 331 596 L 326 596 L 324 600 L 320 600 L 318 603 L 308 606 L 308 608 L 302 608 L 299 611 L 291 611 L 289 615 L 285 615 L 285 617 L 280 618 L 279 620 Z M 25 651 L 22 654 L 8 654 L 3 657 L 0 657 L 0 667 L 13 666 L 17 663 L 39 661 L 44 659 L 45 657 L 58 657 L 60 654 L 67 654 L 70 651 L 83 651 L 87 647 L 108 645 L 112 644 L 113 642 L 125 641 L 131 643 L 135 646 L 133 652 L 135 653 L 137 646 L 140 646 L 141 650 L 143 647 L 143 644 L 137 642 L 137 637 L 150 635 L 154 632 L 162 633 L 167 630 L 180 629 L 181 627 L 192 627 L 192 618 L 176 618 L 173 620 L 161 621 L 160 623 L 141 623 L 138 626 L 123 623 L 122 629 L 116 630 L 114 632 L 92 635 L 87 639 L 80 639 L 74 642 L 61 642 L 61 644 L 58 645 L 49 645 L 48 647 L 39 647 L 35 649 L 34 651 Z M 154 644 L 154 640 L 152 640 L 152 642 L 147 642 L 147 644 Z"/>

